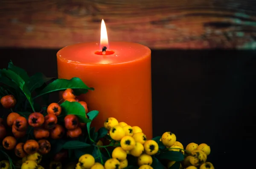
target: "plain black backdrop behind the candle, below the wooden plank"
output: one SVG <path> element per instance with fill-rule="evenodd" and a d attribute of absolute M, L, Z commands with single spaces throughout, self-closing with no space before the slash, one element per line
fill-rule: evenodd
<path fill-rule="evenodd" d="M 57 77 L 57 52 L 0 49 L 0 69 L 12 60 L 29 75 Z M 256 51 L 152 50 L 154 137 L 171 131 L 185 147 L 207 143 L 216 169 L 254 166 L 255 95 Z"/>

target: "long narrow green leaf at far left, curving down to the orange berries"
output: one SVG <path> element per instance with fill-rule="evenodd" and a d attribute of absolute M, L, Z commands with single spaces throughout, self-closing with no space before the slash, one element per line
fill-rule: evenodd
<path fill-rule="evenodd" d="M 13 72 L 11 70 L 2 69 L 1 73 L 5 74 L 7 77 L 12 79 L 20 87 L 21 91 L 24 93 L 26 98 L 29 100 L 29 104 L 31 105 L 32 110 L 35 112 L 35 109 L 33 107 L 33 100 L 31 97 L 31 93 L 30 93 L 25 81 L 18 74 L 16 74 L 15 72 Z"/>

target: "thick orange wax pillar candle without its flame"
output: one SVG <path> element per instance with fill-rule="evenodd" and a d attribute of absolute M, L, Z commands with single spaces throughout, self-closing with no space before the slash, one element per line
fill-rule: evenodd
<path fill-rule="evenodd" d="M 57 53 L 58 78 L 79 77 L 89 91 L 79 97 L 89 111 L 98 110 L 92 126 L 104 126 L 108 117 L 139 126 L 152 138 L 151 50 L 129 42 L 111 42 L 106 55 L 99 43 L 66 46 Z"/>

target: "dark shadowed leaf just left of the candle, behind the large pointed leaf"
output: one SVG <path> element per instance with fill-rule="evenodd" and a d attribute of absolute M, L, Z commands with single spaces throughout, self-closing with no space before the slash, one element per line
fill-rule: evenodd
<path fill-rule="evenodd" d="M 29 91 L 32 92 L 35 89 L 41 87 L 44 83 L 48 82 L 49 80 L 54 79 L 53 77 L 45 77 L 42 73 L 36 73 L 29 78 L 28 81 L 28 88 Z"/>

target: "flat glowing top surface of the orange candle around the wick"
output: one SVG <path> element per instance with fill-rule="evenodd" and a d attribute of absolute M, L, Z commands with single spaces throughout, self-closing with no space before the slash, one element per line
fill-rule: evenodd
<path fill-rule="evenodd" d="M 99 43 L 78 43 L 62 48 L 58 51 L 57 57 L 69 63 L 95 65 L 129 63 L 151 55 L 151 50 L 147 46 L 131 42 L 110 42 L 107 53 L 113 51 L 113 54 L 96 54 L 99 51 L 102 51 Z"/>

